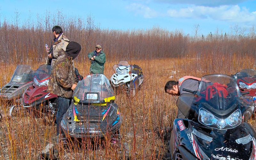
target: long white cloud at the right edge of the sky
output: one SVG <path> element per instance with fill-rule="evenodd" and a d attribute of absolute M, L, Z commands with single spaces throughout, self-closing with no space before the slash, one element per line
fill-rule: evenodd
<path fill-rule="evenodd" d="M 190 6 L 179 10 L 170 9 L 167 11 L 168 16 L 176 18 L 191 19 L 213 19 L 232 22 L 252 22 L 256 20 L 256 13 L 249 12 L 245 7 L 240 8 L 238 5 L 220 7 Z"/>

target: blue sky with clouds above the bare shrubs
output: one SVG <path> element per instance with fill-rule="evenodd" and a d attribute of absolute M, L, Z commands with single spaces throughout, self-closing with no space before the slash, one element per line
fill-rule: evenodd
<path fill-rule="evenodd" d="M 31 16 L 44 17 L 46 12 L 81 17 L 88 14 L 100 28 L 148 29 L 154 26 L 169 31 L 182 30 L 193 35 L 241 32 L 256 28 L 256 0 L 0 0 L 0 20 L 15 22 L 15 12 L 24 22 Z M 218 28 L 218 29 L 217 29 Z"/>

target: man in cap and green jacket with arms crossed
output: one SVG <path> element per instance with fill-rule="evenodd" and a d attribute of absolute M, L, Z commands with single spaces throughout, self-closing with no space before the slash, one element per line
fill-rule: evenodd
<path fill-rule="evenodd" d="M 104 64 L 106 62 L 106 55 L 103 51 L 101 51 L 101 46 L 96 45 L 96 50 L 88 53 L 88 58 L 92 61 L 90 67 L 91 74 L 103 74 L 104 72 Z"/>

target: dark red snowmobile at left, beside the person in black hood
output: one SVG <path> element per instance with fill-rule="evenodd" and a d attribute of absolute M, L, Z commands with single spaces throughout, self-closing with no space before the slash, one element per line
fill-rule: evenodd
<path fill-rule="evenodd" d="M 47 92 L 51 72 L 51 65 L 41 65 L 37 70 L 29 72 L 29 77 L 33 80 L 33 84 L 22 95 L 22 108 L 36 109 L 39 112 L 55 115 L 58 97 L 55 94 Z M 18 111 L 19 109 L 19 106 L 12 106 L 10 116 L 13 110 Z"/>

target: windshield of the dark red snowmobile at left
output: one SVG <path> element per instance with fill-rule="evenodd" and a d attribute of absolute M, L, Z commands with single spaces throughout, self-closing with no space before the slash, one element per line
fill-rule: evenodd
<path fill-rule="evenodd" d="M 52 72 L 52 66 L 51 65 L 41 65 L 35 71 L 31 71 L 29 73 L 29 77 L 31 79 L 34 79 L 34 81 L 35 81 L 35 78 L 37 79 L 37 81 L 43 81 L 43 80 L 50 77 L 51 72 Z"/>

